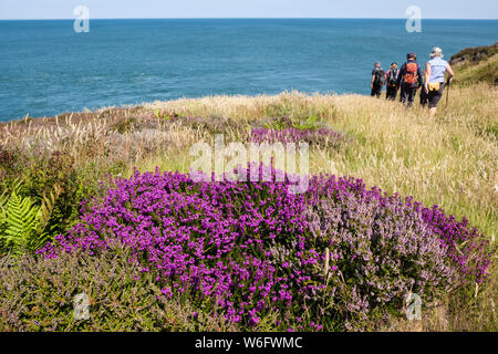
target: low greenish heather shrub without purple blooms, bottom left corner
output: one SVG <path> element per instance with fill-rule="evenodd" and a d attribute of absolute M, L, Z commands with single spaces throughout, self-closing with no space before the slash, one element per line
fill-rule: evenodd
<path fill-rule="evenodd" d="M 0 331 L 234 331 L 224 316 L 168 300 L 153 273 L 110 244 L 97 257 L 0 259 Z M 74 296 L 90 298 L 89 319 L 74 317 Z"/>

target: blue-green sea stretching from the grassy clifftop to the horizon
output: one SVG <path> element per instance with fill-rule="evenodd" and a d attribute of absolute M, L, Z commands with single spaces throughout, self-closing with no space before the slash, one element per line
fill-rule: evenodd
<path fill-rule="evenodd" d="M 498 21 L 222 19 L 0 21 L 0 121 L 216 94 L 369 93 L 375 61 L 424 63 L 498 40 Z"/>

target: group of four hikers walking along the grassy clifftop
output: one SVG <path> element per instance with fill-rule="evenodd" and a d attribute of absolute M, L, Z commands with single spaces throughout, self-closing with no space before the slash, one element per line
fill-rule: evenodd
<path fill-rule="evenodd" d="M 446 83 L 445 73 L 448 73 Z M 417 90 L 422 88 L 421 105 L 425 107 L 428 104 L 429 116 L 434 117 L 437 103 L 443 96 L 444 87 L 445 85 L 449 86 L 453 76 L 452 66 L 443 60 L 442 49 L 435 46 L 424 71 L 417 63 L 415 53 L 408 53 L 406 62 L 401 67 L 393 62 L 387 72 L 381 67 L 380 62 L 376 62 L 372 71 L 371 95 L 381 97 L 382 87 L 386 85 L 386 100 L 395 101 L 400 88 L 400 101 L 411 107 L 415 101 Z"/>

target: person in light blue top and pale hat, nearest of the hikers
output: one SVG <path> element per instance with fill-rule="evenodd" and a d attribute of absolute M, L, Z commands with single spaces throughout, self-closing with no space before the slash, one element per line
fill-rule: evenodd
<path fill-rule="evenodd" d="M 445 73 L 448 73 L 446 85 L 453 81 L 453 70 L 448 62 L 443 60 L 443 50 L 435 46 L 430 53 L 430 60 L 425 66 L 425 85 L 424 91 L 427 95 L 429 118 L 434 118 L 437 112 L 437 103 L 443 97 L 445 90 Z"/>

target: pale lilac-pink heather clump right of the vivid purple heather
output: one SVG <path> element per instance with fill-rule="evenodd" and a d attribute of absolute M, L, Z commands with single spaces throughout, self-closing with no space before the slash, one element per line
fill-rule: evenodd
<path fill-rule="evenodd" d="M 456 285 L 438 236 L 401 198 L 381 201 L 354 179 L 330 179 L 317 191 L 322 198 L 308 211 L 309 228 L 330 244 L 328 268 L 340 273 L 321 296 L 333 299 L 347 329 L 386 304 L 401 308 L 409 292 L 430 299 Z"/>

